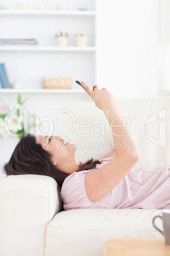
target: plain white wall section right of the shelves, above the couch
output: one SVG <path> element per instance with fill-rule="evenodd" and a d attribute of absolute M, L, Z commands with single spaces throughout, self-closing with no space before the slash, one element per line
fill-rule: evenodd
<path fill-rule="evenodd" d="M 115 98 L 159 96 L 159 0 L 97 3 L 98 85 Z"/>

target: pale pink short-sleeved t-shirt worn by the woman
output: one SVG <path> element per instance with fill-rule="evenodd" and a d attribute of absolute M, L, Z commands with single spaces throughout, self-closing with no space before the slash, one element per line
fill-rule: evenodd
<path fill-rule="evenodd" d="M 102 159 L 95 169 L 107 164 L 111 158 Z M 81 162 L 79 162 L 80 164 Z M 78 165 L 79 165 L 78 164 Z M 62 185 L 60 196 L 65 210 L 84 208 L 170 208 L 170 167 L 131 169 L 124 179 L 107 195 L 92 203 L 84 185 L 87 173 L 95 170 L 70 174 Z"/>

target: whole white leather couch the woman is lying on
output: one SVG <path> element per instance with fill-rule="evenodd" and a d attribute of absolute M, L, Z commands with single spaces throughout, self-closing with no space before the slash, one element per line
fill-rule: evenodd
<path fill-rule="evenodd" d="M 122 99 L 117 107 L 140 155 L 134 169 L 168 166 L 170 99 Z M 91 156 L 100 159 L 111 150 L 108 122 L 94 103 L 68 106 L 61 135 L 77 143 L 77 162 Z M 161 236 L 152 227 L 152 218 L 161 210 L 60 211 L 58 195 L 56 181 L 47 176 L 18 175 L 1 181 L 1 256 L 101 256 L 108 239 Z M 162 228 L 160 220 L 157 225 Z"/>

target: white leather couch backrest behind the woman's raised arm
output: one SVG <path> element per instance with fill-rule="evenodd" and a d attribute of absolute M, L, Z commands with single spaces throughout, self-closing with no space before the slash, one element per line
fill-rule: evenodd
<path fill-rule="evenodd" d="M 134 169 L 170 165 L 170 98 L 119 99 L 116 103 L 140 156 Z M 100 159 L 113 147 L 107 119 L 93 102 L 65 108 L 61 135 L 77 145 L 77 162 Z M 131 145 L 126 141 L 122 146 Z"/>

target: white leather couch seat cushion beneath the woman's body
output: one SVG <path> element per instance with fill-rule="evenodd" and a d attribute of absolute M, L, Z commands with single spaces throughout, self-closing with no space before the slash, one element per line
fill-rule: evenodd
<path fill-rule="evenodd" d="M 108 239 L 162 237 L 152 226 L 152 218 L 161 213 L 143 209 L 62 211 L 48 224 L 45 255 L 102 256 Z M 162 229 L 159 219 L 157 226 Z"/>

